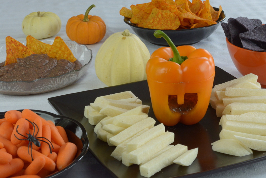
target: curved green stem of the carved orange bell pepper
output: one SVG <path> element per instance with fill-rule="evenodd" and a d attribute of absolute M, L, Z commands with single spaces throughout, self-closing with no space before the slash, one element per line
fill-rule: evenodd
<path fill-rule="evenodd" d="M 171 47 L 172 51 L 173 51 L 173 58 L 169 59 L 170 61 L 176 62 L 177 64 L 182 64 L 182 62 L 184 62 L 184 59 L 181 58 L 178 50 L 176 49 L 176 46 L 174 45 L 174 43 L 172 42 L 172 40 L 167 36 L 167 34 L 165 34 L 163 31 L 161 30 L 156 30 L 153 35 L 156 38 L 161 38 L 163 37 L 166 42 L 168 43 L 168 45 Z"/>

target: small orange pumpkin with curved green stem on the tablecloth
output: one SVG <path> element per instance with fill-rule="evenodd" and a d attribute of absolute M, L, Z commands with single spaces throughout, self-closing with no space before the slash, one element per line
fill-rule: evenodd
<path fill-rule="evenodd" d="M 85 15 L 80 14 L 68 19 L 66 23 L 66 35 L 77 43 L 90 45 L 103 39 L 106 33 L 106 25 L 101 17 L 89 15 L 90 10 L 95 7 L 91 5 Z"/>

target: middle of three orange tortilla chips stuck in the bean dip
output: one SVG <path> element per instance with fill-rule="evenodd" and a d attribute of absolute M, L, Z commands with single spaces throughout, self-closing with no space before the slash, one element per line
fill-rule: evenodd
<path fill-rule="evenodd" d="M 52 45 L 39 41 L 38 39 L 28 35 L 26 37 L 26 46 L 35 54 L 48 54 Z"/>

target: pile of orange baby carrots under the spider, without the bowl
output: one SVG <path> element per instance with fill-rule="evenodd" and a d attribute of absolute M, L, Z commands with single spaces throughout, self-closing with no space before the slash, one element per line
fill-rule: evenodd
<path fill-rule="evenodd" d="M 38 128 L 34 128 L 31 122 Z M 32 144 L 31 151 L 28 134 L 43 140 L 41 146 Z M 77 146 L 68 141 L 63 127 L 55 126 L 32 110 L 10 110 L 5 113 L 5 118 L 0 119 L 0 178 L 45 177 L 65 168 L 77 154 Z"/>

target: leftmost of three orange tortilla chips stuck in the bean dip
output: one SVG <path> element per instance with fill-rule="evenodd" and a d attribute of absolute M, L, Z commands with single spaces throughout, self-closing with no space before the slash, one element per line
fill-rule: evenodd
<path fill-rule="evenodd" d="M 28 57 L 35 54 L 32 50 L 17 41 L 16 39 L 8 36 L 6 37 L 6 61 L 5 65 L 17 62 L 17 58 Z"/>

